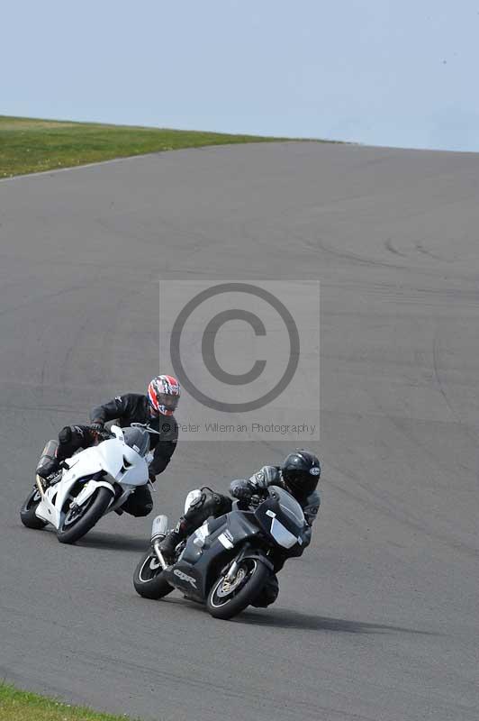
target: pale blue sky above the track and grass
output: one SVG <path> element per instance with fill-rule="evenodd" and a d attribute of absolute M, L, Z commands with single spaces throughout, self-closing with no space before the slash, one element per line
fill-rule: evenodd
<path fill-rule="evenodd" d="M 479 151 L 479 2 L 16 0 L 0 114 Z"/>

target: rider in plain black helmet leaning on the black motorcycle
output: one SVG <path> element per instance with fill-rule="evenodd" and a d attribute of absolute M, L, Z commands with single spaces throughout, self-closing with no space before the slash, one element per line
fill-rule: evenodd
<path fill-rule="evenodd" d="M 311 543 L 312 524 L 318 514 L 321 504 L 320 494 L 316 487 L 321 476 L 321 466 L 318 458 L 311 452 L 298 449 L 286 456 L 281 466 L 263 466 L 249 479 L 233 480 L 230 483 L 231 496 L 238 498 L 245 504 L 253 496 L 261 496 L 268 486 L 280 486 L 289 491 L 303 508 L 303 514 L 308 528 L 303 534 L 303 544 L 298 545 L 295 552 L 280 552 L 275 558 L 275 571 L 281 570 L 286 558 L 292 555 L 301 555 Z M 192 493 L 194 500 L 188 507 L 184 516 L 181 516 L 173 531 L 165 536 L 159 544 L 159 550 L 166 559 L 173 556 L 176 545 L 192 534 L 204 521 L 213 516 L 218 518 L 231 510 L 232 501 L 228 496 L 203 487 Z M 258 598 L 252 604 L 256 607 L 267 607 L 276 601 L 279 586 L 275 575 L 267 580 Z"/>

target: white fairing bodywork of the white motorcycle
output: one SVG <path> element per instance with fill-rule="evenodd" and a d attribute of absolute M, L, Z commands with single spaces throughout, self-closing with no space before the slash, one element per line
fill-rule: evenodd
<path fill-rule="evenodd" d="M 111 432 L 115 438 L 86 448 L 65 461 L 68 470 L 63 471 L 58 483 L 47 488 L 37 507 L 37 516 L 59 528 L 65 516 L 65 508 L 68 507 L 70 491 L 79 479 L 87 480 L 75 499 L 78 505 L 85 503 L 96 488 L 110 488 L 114 495 L 113 485 L 116 483 L 122 486 L 122 496 L 109 507 L 109 511 L 121 506 L 134 488 L 149 482 L 147 460 L 124 443 L 121 428 L 113 425 Z M 101 479 L 91 479 L 91 476 L 102 470 L 104 476 Z"/>

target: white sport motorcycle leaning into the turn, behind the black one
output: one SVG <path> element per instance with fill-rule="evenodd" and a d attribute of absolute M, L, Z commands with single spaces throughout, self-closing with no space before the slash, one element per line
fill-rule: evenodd
<path fill-rule="evenodd" d="M 113 425 L 106 440 L 63 461 L 59 480 L 48 488 L 37 475 L 20 511 L 23 525 L 51 524 L 60 543 L 78 541 L 102 516 L 119 511 L 136 488 L 151 486 L 149 434 L 159 435 L 147 424 Z"/>

